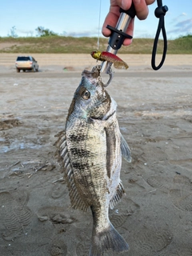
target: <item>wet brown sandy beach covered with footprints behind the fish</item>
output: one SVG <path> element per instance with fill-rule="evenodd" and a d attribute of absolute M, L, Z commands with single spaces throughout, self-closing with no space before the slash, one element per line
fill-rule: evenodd
<path fill-rule="evenodd" d="M 0 255 L 88 256 L 92 216 L 70 207 L 54 135 L 96 62 L 34 54 L 39 72 L 16 73 L 17 55 L 0 54 Z M 121 58 L 130 68 L 107 87 L 132 154 L 122 160 L 126 196 L 110 210 L 130 245 L 120 255 L 191 256 L 192 55 L 168 55 L 158 71 L 149 55 Z"/>

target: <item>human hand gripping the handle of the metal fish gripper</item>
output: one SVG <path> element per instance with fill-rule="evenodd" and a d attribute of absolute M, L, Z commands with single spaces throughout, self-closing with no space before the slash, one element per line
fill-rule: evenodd
<path fill-rule="evenodd" d="M 152 4 L 155 0 L 133 0 L 134 8 L 136 10 L 137 17 L 142 20 L 146 19 L 149 14 L 148 5 Z M 106 28 L 106 25 L 116 26 L 118 18 L 120 16 L 119 7 L 123 10 L 129 10 L 132 4 L 131 0 L 110 0 L 110 11 L 106 15 L 105 22 L 102 26 L 102 34 L 106 37 L 110 36 L 111 31 Z M 131 19 L 130 25 L 126 30 L 126 34 L 133 36 L 134 33 L 134 19 Z M 130 45 L 132 39 L 126 38 L 123 42 L 124 46 Z"/>

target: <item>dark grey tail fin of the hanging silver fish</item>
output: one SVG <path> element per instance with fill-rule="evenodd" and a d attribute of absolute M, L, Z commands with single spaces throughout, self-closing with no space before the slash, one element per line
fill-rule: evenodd
<path fill-rule="evenodd" d="M 93 230 L 89 256 L 102 256 L 106 250 L 116 252 L 129 250 L 128 244 L 111 223 L 106 230 L 98 234 L 94 234 Z"/>

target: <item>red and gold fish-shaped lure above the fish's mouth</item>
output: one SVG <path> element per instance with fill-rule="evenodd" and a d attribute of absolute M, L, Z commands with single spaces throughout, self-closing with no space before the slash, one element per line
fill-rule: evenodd
<path fill-rule="evenodd" d="M 99 51 L 99 50 L 94 50 L 90 53 L 90 55 L 95 58 L 98 59 L 98 61 L 101 62 L 111 62 L 114 63 L 114 68 L 118 69 L 118 70 L 127 70 L 128 69 L 128 65 L 126 64 L 126 62 L 124 62 L 121 58 L 119 58 L 117 55 L 115 54 L 111 54 L 110 52 L 107 51 Z"/>

